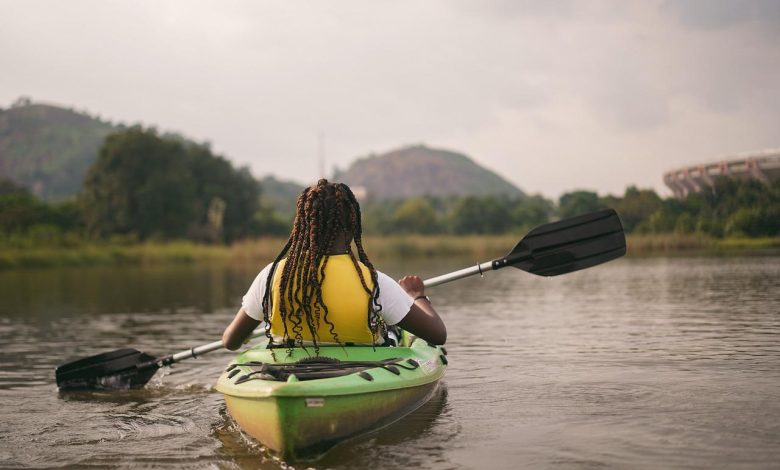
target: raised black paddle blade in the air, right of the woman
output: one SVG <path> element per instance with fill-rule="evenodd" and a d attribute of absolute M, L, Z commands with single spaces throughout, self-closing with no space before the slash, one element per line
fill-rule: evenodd
<path fill-rule="evenodd" d="M 493 261 L 493 269 L 514 266 L 539 276 L 557 276 L 625 254 L 620 217 L 605 209 L 536 227 L 508 255 Z"/>

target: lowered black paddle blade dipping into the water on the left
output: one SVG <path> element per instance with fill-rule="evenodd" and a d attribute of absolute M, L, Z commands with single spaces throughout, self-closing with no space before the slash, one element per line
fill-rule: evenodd
<path fill-rule="evenodd" d="M 86 357 L 57 367 L 60 390 L 116 390 L 143 387 L 159 367 L 155 358 L 136 349 Z"/>

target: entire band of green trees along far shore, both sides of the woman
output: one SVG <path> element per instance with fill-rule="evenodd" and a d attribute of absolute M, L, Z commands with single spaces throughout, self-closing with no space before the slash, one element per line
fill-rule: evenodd
<path fill-rule="evenodd" d="M 261 203 L 260 184 L 245 168 L 154 129 L 109 135 L 79 196 L 48 204 L 0 181 L 0 245 L 78 245 L 193 240 L 231 243 L 285 236 L 293 214 Z M 686 199 L 663 199 L 629 187 L 622 196 L 574 191 L 542 196 L 418 197 L 361 202 L 366 233 L 502 234 L 606 207 L 629 233 L 699 233 L 712 237 L 780 235 L 780 182 L 718 179 Z"/>

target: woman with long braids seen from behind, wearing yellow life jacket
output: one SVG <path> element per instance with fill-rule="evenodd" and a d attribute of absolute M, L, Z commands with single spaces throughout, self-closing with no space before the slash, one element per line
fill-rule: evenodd
<path fill-rule="evenodd" d="M 357 248 L 357 258 L 352 245 Z M 292 233 L 255 278 L 222 341 L 238 349 L 264 323 L 275 344 L 385 344 L 398 325 L 434 344 L 447 330 L 417 276 L 398 283 L 363 249 L 360 205 L 349 187 L 321 179 L 298 197 Z"/>

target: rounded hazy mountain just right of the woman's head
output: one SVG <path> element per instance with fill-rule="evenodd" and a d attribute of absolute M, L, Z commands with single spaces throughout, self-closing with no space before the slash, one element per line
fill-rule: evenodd
<path fill-rule="evenodd" d="M 472 161 L 448 150 L 415 145 L 354 162 L 335 180 L 378 199 L 414 196 L 508 195 L 523 192 Z"/>

